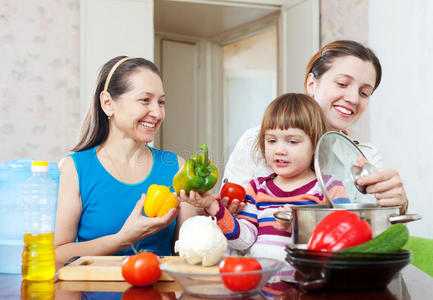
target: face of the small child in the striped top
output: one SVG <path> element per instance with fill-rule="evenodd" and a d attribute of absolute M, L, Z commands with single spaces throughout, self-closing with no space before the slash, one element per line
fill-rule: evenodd
<path fill-rule="evenodd" d="M 265 132 L 266 163 L 278 176 L 295 179 L 309 175 L 313 153 L 311 139 L 301 129 Z"/>

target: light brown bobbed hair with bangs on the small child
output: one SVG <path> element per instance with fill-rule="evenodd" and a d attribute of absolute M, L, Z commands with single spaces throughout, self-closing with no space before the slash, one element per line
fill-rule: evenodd
<path fill-rule="evenodd" d="M 298 128 L 310 137 L 313 149 L 326 132 L 326 121 L 317 102 L 305 94 L 288 93 L 277 97 L 266 108 L 257 147 L 265 156 L 265 133 L 269 129 Z"/>

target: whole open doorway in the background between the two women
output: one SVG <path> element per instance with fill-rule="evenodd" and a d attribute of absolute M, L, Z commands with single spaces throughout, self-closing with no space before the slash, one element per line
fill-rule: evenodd
<path fill-rule="evenodd" d="M 245 129 L 260 123 L 267 105 L 263 99 L 277 93 L 278 13 L 278 7 L 155 1 L 155 62 L 167 94 L 156 147 L 188 158 L 207 143 L 222 177 L 234 143 Z M 269 43 L 274 43 L 267 53 L 274 60 L 271 71 L 256 63 L 263 64 L 257 57 L 266 55 L 257 51 Z M 242 96 L 246 90 L 255 97 Z M 254 113 L 242 111 L 246 103 Z"/>

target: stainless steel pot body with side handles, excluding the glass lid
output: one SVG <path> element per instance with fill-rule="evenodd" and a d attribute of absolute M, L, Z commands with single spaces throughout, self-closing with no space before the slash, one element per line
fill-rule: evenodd
<path fill-rule="evenodd" d="M 380 207 L 373 203 L 337 204 L 335 208 L 328 205 L 293 206 L 292 211 L 279 211 L 274 217 L 292 225 L 292 236 L 295 244 L 306 244 L 316 226 L 328 214 L 335 210 L 349 210 L 366 220 L 373 237 L 385 231 L 392 224 L 407 223 L 421 219 L 418 214 L 399 215 L 399 206 Z"/>

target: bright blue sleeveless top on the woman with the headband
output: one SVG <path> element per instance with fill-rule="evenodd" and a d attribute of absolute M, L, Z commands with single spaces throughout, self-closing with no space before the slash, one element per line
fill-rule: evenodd
<path fill-rule="evenodd" d="M 78 224 L 77 241 L 93 240 L 117 233 L 131 214 L 141 194 L 151 184 L 171 186 L 179 169 L 177 155 L 149 147 L 153 165 L 149 175 L 141 182 L 127 184 L 114 178 L 100 163 L 96 147 L 70 154 L 78 173 L 82 214 Z M 144 213 L 143 213 L 144 215 Z M 137 250 L 171 255 L 174 220 L 169 226 L 134 244 Z M 134 254 L 131 248 L 116 255 Z"/>

